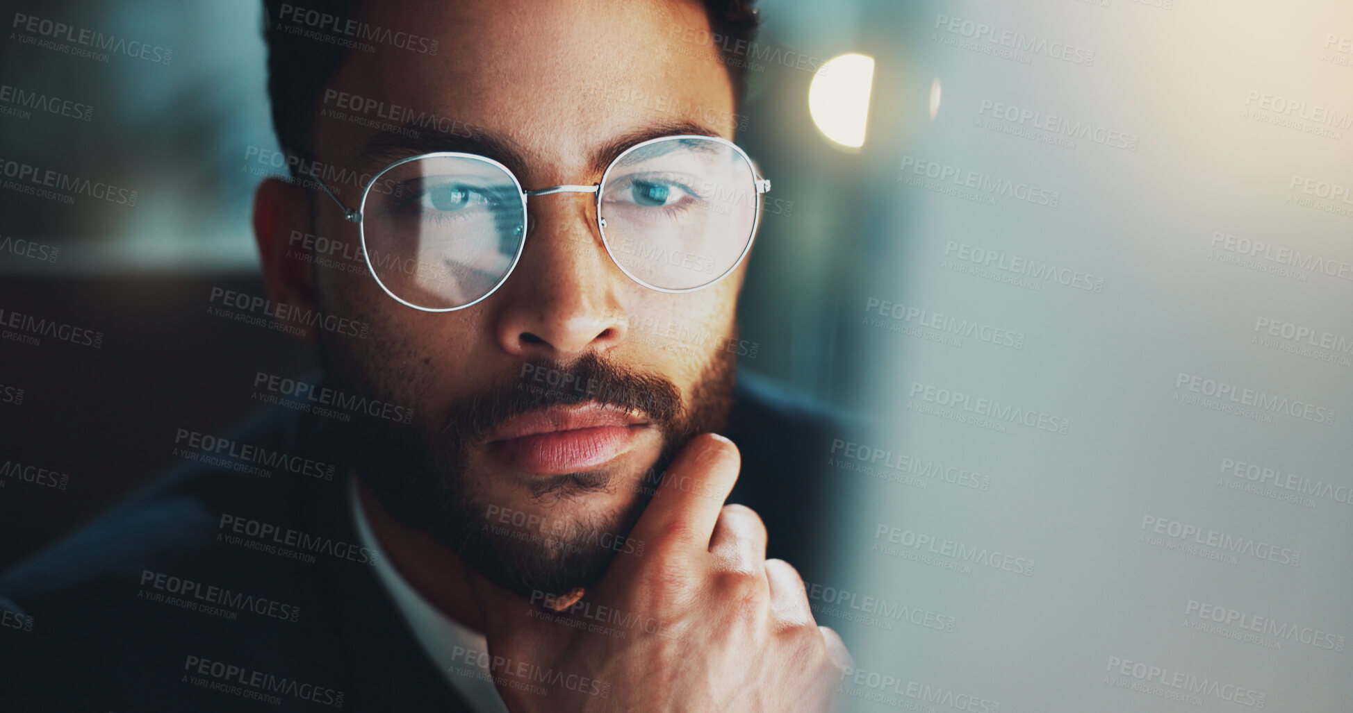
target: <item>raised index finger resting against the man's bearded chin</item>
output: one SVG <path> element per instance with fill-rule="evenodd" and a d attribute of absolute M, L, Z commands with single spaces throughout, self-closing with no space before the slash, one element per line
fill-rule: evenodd
<path fill-rule="evenodd" d="M 687 556 L 708 553 L 714 524 L 740 467 L 741 456 L 733 441 L 714 433 L 695 436 L 663 474 L 630 537 L 652 543 L 651 551 L 660 549 L 664 555 L 668 549 Z"/>

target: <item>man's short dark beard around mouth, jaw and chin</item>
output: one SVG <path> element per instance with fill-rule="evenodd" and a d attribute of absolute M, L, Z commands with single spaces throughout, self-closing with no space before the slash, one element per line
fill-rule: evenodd
<path fill-rule="evenodd" d="M 365 354 L 357 354 L 349 342 L 321 336 L 318 350 L 327 386 L 409 405 L 413 399 L 403 395 L 430 380 L 426 371 L 400 379 L 380 368 L 377 357 L 387 349 L 375 349 L 376 353 L 364 349 Z M 363 365 L 375 367 L 384 377 L 373 376 Z M 395 521 L 456 552 L 490 582 L 522 597 L 570 593 L 595 584 L 617 552 L 633 548 L 628 534 L 686 442 L 700 433 L 724 430 L 735 372 L 736 356 L 713 350 L 686 405 L 681 390 L 662 375 L 632 369 L 595 353 L 570 364 L 545 359 L 522 361 L 517 369 L 441 410 L 417 411 L 411 423 L 384 419 L 352 423 L 342 440 L 345 456 Z M 556 386 L 537 383 L 533 376 L 538 373 L 548 375 L 545 384 Z M 533 478 L 530 501 L 552 502 L 551 511 L 559 515 L 526 518 L 506 503 L 488 502 L 479 486 L 491 475 L 472 472 L 472 451 L 510 418 L 572 403 L 594 403 L 647 418 L 662 434 L 656 461 L 643 472 L 602 465 Z M 572 517 L 566 511 L 567 501 L 626 487 L 637 497 L 621 511 Z M 579 506 L 584 509 L 584 503 Z M 490 520 L 505 511 L 513 515 L 511 525 L 501 517 Z"/>

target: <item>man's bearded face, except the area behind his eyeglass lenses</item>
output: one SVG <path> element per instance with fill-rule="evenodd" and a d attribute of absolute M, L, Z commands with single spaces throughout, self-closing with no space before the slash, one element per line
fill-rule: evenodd
<path fill-rule="evenodd" d="M 437 54 L 349 51 L 327 87 L 449 130 L 386 137 L 377 154 L 377 130 L 325 112 L 313 134 L 325 164 L 372 175 L 438 147 L 486 153 L 532 189 L 597 183 L 617 142 L 733 138 L 728 73 L 712 45 L 690 41 L 708 32 L 695 3 L 367 3 L 361 19 L 437 39 Z M 356 206 L 359 189 L 340 188 Z M 314 206 L 317 235 L 359 242 L 327 199 Z M 321 333 L 327 376 L 415 414 L 353 429 L 363 482 L 398 521 L 499 584 L 561 593 L 637 545 L 624 534 L 655 474 L 690 436 L 723 428 L 733 354 L 721 346 L 735 336 L 746 262 L 714 285 L 664 294 L 607 256 L 591 193 L 534 196 L 529 212 L 511 276 L 471 307 L 414 310 L 365 272 L 323 267 L 315 292 L 321 310 L 371 325 L 367 340 Z"/>

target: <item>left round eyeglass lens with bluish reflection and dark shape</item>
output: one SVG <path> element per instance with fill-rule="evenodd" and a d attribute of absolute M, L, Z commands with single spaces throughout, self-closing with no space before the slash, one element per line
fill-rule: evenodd
<path fill-rule="evenodd" d="M 363 248 L 380 285 L 428 310 L 463 307 L 502 283 L 521 254 L 525 208 L 498 164 L 432 156 L 380 175 L 363 206 Z"/>

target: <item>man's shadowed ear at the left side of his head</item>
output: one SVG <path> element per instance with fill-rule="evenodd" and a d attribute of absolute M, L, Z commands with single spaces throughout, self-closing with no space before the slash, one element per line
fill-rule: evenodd
<path fill-rule="evenodd" d="M 306 189 L 280 179 L 265 179 L 254 191 L 253 229 L 268 298 L 273 304 L 313 314 L 317 303 L 314 256 L 303 248 L 303 237 L 314 233 L 314 225 Z M 313 342 L 314 330 L 304 329 L 300 338 Z"/>

